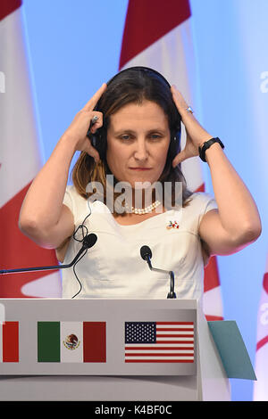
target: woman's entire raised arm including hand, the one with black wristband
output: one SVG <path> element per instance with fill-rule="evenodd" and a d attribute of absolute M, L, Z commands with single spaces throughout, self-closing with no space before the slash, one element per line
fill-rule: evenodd
<path fill-rule="evenodd" d="M 187 132 L 186 146 L 173 160 L 173 165 L 176 165 L 197 156 L 198 147 L 212 136 L 187 111 L 188 105 L 175 86 L 172 86 L 172 94 Z M 206 150 L 205 160 L 210 168 L 218 209 L 205 214 L 199 226 L 199 234 L 211 254 L 231 254 L 258 238 L 262 230 L 261 220 L 247 186 L 232 167 L 220 144 L 215 143 Z"/>

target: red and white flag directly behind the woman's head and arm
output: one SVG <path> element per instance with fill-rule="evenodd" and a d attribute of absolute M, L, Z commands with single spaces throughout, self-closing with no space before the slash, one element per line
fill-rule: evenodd
<path fill-rule="evenodd" d="M 197 75 L 188 0 L 129 0 L 121 45 L 120 70 L 146 66 L 178 87 L 195 109 Z M 182 133 L 182 147 L 185 144 Z M 182 163 L 188 188 L 205 192 L 199 157 Z M 204 308 L 207 320 L 221 320 L 222 295 L 217 261 L 205 267 Z"/>

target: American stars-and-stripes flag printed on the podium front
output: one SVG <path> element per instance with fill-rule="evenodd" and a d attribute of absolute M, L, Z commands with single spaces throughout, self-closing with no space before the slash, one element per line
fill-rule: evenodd
<path fill-rule="evenodd" d="M 193 322 L 126 322 L 125 362 L 194 362 Z"/>

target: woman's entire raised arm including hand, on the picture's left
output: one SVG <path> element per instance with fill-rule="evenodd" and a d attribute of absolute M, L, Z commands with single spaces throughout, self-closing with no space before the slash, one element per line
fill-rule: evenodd
<path fill-rule="evenodd" d="M 71 210 L 63 205 L 71 160 L 76 151 L 86 151 L 96 160 L 99 159 L 87 133 L 93 116 L 97 116 L 98 119 L 91 131 L 95 132 L 102 126 L 102 113 L 94 111 L 94 108 L 105 88 L 105 84 L 101 86 L 75 116 L 50 158 L 29 186 L 22 203 L 19 218 L 21 232 L 41 247 L 58 248 L 73 233 Z"/>

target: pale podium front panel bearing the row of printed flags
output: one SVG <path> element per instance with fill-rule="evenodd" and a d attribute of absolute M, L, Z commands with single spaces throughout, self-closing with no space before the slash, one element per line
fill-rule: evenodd
<path fill-rule="evenodd" d="M 197 301 L 4 299 L 1 375 L 195 375 Z"/>

